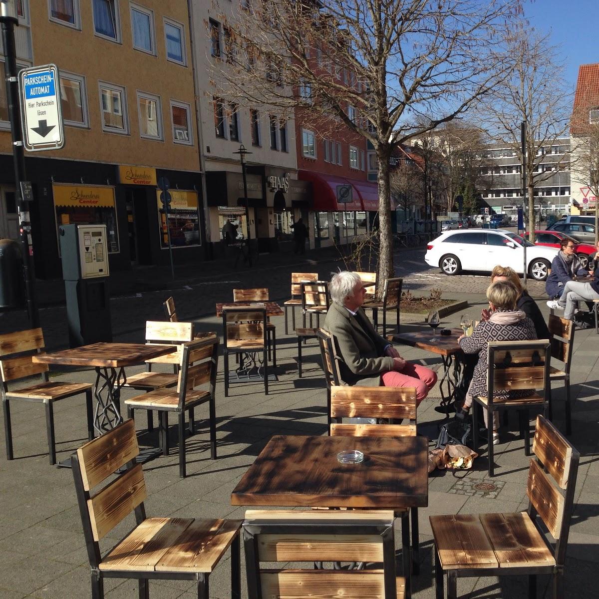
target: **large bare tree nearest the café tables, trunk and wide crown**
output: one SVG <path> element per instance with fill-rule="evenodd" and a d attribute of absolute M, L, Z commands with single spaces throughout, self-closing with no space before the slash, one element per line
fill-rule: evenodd
<path fill-rule="evenodd" d="M 296 117 L 303 107 L 373 144 L 384 280 L 394 274 L 389 158 L 506 77 L 513 60 L 503 33 L 520 10 L 521 0 L 244 0 L 226 23 L 237 68 L 214 61 L 226 68 L 211 78 L 240 104 Z"/>

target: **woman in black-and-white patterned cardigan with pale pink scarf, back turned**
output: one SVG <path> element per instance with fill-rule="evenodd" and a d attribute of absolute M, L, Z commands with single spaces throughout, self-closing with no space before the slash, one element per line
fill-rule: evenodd
<path fill-rule="evenodd" d="M 485 397 L 487 394 L 487 351 L 489 341 L 525 341 L 536 339 L 533 321 L 516 307 L 518 289 L 509 281 L 491 283 L 487 289 L 489 300 L 489 319 L 482 320 L 470 337 L 461 335 L 458 342 L 464 353 L 478 354 L 474 375 L 464 400 L 464 405 L 456 416 L 465 418 L 470 413 L 473 397 Z M 495 398 L 515 399 L 530 395 L 530 391 L 498 391 Z M 485 418 L 486 423 L 486 418 Z M 487 426 L 488 423 L 486 423 Z M 493 444 L 499 443 L 497 412 L 493 413 Z"/>

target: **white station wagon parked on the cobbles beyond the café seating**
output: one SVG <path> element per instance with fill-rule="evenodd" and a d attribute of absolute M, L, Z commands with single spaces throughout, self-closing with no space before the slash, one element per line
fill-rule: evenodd
<path fill-rule="evenodd" d="M 535 246 L 502 229 L 441 233 L 426 246 L 424 259 L 426 264 L 439 267 L 449 275 L 462 270 L 490 272 L 497 264 L 524 274 L 524 244 L 527 245 L 527 273 L 537 281 L 544 281 L 558 250 Z"/>

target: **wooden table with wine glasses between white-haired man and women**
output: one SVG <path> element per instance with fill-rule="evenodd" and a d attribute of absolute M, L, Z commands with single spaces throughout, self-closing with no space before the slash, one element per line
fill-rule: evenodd
<path fill-rule="evenodd" d="M 441 356 L 443 362 L 443 376 L 439 382 L 441 391 L 441 404 L 435 407 L 437 412 L 449 416 L 450 405 L 456 398 L 456 391 L 464 382 L 462 379 L 462 362 L 458 356 L 462 355 L 462 348 L 459 346 L 458 337 L 464 334 L 462 329 L 450 329 L 451 335 L 441 335 L 439 329 L 436 331 L 418 331 L 412 333 L 397 333 L 388 335 L 389 341 L 403 343 L 412 347 L 419 347 L 427 352 L 436 353 Z M 438 341 L 431 343 L 431 338 L 436 337 Z M 444 389 L 446 386 L 446 389 Z"/>

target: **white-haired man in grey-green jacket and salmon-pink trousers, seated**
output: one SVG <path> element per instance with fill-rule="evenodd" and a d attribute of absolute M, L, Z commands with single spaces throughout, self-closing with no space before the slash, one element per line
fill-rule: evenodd
<path fill-rule="evenodd" d="M 375 330 L 361 305 L 366 289 L 356 273 L 336 273 L 329 283 L 332 304 L 324 328 L 337 338 L 341 379 L 365 387 L 415 387 L 418 403 L 437 382 L 430 368 L 404 360 Z"/>

